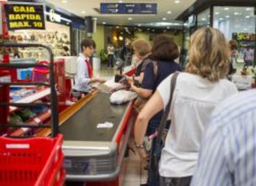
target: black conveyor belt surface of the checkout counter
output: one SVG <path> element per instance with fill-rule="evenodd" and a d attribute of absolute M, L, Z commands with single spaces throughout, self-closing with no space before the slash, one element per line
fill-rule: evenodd
<path fill-rule="evenodd" d="M 98 93 L 85 106 L 64 122 L 59 130 L 68 141 L 111 142 L 128 104 L 112 105 L 109 94 Z M 114 124 L 111 129 L 97 129 L 104 122 Z"/>

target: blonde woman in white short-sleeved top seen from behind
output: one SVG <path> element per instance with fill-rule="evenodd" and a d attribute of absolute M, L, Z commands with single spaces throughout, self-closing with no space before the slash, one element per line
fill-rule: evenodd
<path fill-rule="evenodd" d="M 215 106 L 237 93 L 234 83 L 224 79 L 229 70 L 228 43 L 214 28 L 200 28 L 191 36 L 186 72 L 177 77 L 169 119 L 171 128 L 161 152 L 161 186 L 188 186 L 198 158 L 205 124 Z M 170 75 L 157 88 L 135 123 L 135 143 L 146 158 L 143 136 L 148 120 L 166 108 L 171 92 Z"/>

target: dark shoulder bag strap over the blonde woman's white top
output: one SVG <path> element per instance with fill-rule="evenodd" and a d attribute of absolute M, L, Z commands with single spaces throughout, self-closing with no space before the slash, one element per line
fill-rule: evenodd
<path fill-rule="evenodd" d="M 164 110 L 164 114 L 161 118 L 160 125 L 158 127 L 158 135 L 156 137 L 156 143 L 161 143 L 161 138 L 162 138 L 162 135 L 163 135 L 163 132 L 164 132 L 164 128 L 166 126 L 166 122 L 168 120 L 169 112 L 171 110 L 171 102 L 173 101 L 173 93 L 174 93 L 174 90 L 175 90 L 175 87 L 176 87 L 176 80 L 177 80 L 178 75 L 179 75 L 179 72 L 175 72 L 173 74 L 173 77 L 171 78 L 170 98 L 169 98 L 169 102 L 166 106 L 166 109 Z"/>

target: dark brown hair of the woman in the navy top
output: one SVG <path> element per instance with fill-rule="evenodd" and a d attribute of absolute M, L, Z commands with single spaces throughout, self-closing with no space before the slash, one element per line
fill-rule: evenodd
<path fill-rule="evenodd" d="M 153 40 L 151 49 L 152 59 L 156 61 L 170 61 L 179 57 L 179 49 L 174 39 L 168 35 L 160 34 Z"/>

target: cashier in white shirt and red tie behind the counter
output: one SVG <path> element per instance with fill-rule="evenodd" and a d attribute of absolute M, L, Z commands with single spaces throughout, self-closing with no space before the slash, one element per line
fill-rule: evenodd
<path fill-rule="evenodd" d="M 90 38 L 86 38 L 81 42 L 82 53 L 80 53 L 79 57 L 77 57 L 77 74 L 75 75 L 74 91 L 83 93 L 83 95 L 87 95 L 87 93 L 92 90 L 92 83 L 105 82 L 104 78 L 93 77 L 90 57 L 92 56 L 95 48 L 96 44 Z"/>

